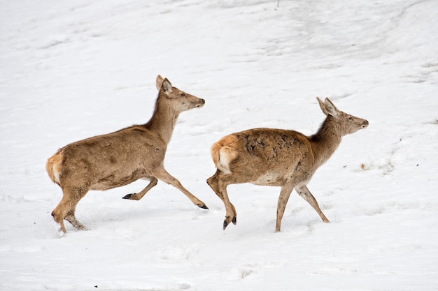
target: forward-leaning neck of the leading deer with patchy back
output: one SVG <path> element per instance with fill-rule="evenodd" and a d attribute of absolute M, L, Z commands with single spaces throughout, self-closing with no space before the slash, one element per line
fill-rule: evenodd
<path fill-rule="evenodd" d="M 317 167 L 323 165 L 332 156 L 339 147 L 341 140 L 342 135 L 337 122 L 334 117 L 327 115 L 318 132 L 310 138 Z"/>

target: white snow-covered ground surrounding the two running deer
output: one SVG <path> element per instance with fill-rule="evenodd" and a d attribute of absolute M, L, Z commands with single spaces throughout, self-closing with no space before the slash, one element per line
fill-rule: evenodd
<path fill-rule="evenodd" d="M 278 5 L 279 3 L 279 5 Z M 438 1 L 1 1 L 0 290 L 438 290 Z M 50 212 L 59 147 L 148 121 L 162 74 L 206 99 L 181 114 L 159 182 L 90 191 L 80 232 Z M 309 188 L 206 184 L 213 142 L 253 127 L 310 135 L 316 96 L 369 121 Z"/>

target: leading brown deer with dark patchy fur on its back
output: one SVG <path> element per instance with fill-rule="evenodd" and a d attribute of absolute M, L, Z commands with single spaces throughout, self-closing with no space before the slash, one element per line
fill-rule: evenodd
<path fill-rule="evenodd" d="M 281 230 L 281 219 L 294 189 L 325 223 L 330 222 L 306 185 L 339 147 L 342 137 L 366 128 L 368 121 L 339 111 L 329 98 L 324 102 L 318 97 L 317 100 L 326 118 L 314 135 L 306 136 L 295 130 L 253 128 L 226 135 L 213 144 L 211 156 L 216 173 L 207 179 L 207 184 L 225 205 L 224 230 L 229 223 L 236 225 L 237 222 L 227 186 L 243 183 L 281 187 L 276 232 Z"/>

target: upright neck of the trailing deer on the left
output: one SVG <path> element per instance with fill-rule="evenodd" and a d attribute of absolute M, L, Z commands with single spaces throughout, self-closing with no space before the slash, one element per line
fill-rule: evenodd
<path fill-rule="evenodd" d="M 172 137 L 172 133 L 174 133 L 179 112 L 174 110 L 167 102 L 166 97 L 161 96 L 161 94 L 164 93 L 160 91 L 155 103 L 154 113 L 146 124 L 146 128 L 149 128 L 160 135 L 162 140 L 168 144 Z"/>

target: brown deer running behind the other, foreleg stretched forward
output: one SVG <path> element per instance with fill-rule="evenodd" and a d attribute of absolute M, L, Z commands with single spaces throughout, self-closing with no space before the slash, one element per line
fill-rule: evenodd
<path fill-rule="evenodd" d="M 141 200 L 160 179 L 178 188 L 193 204 L 208 209 L 164 169 L 164 156 L 178 115 L 204 106 L 205 100 L 173 87 L 161 75 L 157 76 L 156 84 L 159 93 L 148 123 L 67 144 L 48 159 L 48 175 L 63 192 L 62 200 L 52 211 L 62 232 L 66 232 L 64 220 L 78 230 L 87 230 L 76 218 L 75 211 L 88 191 L 125 186 L 138 179 L 146 179 L 149 184 L 123 199 Z"/>

